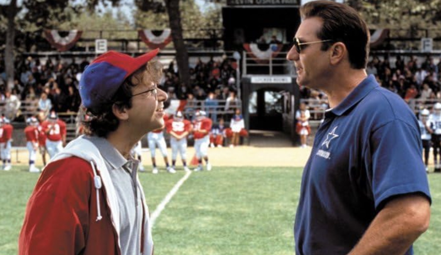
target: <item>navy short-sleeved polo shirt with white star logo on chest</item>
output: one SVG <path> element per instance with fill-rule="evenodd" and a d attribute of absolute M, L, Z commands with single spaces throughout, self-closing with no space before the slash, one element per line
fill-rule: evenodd
<path fill-rule="evenodd" d="M 421 152 L 411 109 L 369 75 L 318 128 L 295 215 L 296 254 L 347 254 L 392 196 L 430 200 Z"/>

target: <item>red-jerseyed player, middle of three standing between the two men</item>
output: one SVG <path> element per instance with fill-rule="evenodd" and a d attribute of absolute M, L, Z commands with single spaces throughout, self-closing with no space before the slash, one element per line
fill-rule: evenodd
<path fill-rule="evenodd" d="M 181 155 L 184 171 L 190 169 L 187 166 L 187 136 L 191 132 L 191 122 L 184 119 L 182 112 L 176 112 L 174 118 L 166 123 L 167 133 L 170 134 L 170 147 L 172 147 L 172 169 L 175 170 L 178 152 Z"/>

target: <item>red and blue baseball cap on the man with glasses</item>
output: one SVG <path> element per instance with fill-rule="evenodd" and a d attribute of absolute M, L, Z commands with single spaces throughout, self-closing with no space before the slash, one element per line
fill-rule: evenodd
<path fill-rule="evenodd" d="M 127 54 L 108 51 L 90 63 L 81 75 L 79 92 L 82 104 L 89 110 L 109 103 L 124 80 L 159 52 L 159 48 L 133 58 Z"/>

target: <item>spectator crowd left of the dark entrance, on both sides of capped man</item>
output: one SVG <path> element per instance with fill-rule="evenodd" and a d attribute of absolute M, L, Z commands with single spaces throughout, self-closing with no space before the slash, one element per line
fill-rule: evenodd
<path fill-rule="evenodd" d="M 8 95 L 12 95 L 16 97 L 15 101 L 35 101 L 37 111 L 76 113 L 81 103 L 78 81 L 88 64 L 86 58 L 80 63 L 75 58 L 49 58 L 45 63 L 38 58 L 17 58 L 14 87 L 7 89 L 4 59 L 0 57 L 0 102 L 6 105 L 10 101 Z M 236 62 L 226 56 L 220 60 L 212 57 L 208 62 L 198 59 L 190 68 L 190 84 L 185 84 L 179 80 L 176 61 L 172 61 L 164 68 L 162 88 L 170 100 L 182 101 L 182 107 L 187 104 L 187 113 L 200 107 L 200 100 L 206 101 L 209 113 L 212 112 L 210 107 L 217 107 L 217 100 L 226 100 L 225 110 L 228 110 L 239 102 L 236 96 L 236 68 Z M 12 108 L 18 109 L 17 105 Z"/>

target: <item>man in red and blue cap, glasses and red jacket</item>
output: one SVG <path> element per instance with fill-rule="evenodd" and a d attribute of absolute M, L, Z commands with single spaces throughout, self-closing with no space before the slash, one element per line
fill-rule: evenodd
<path fill-rule="evenodd" d="M 51 159 L 27 204 L 19 255 L 152 255 L 149 208 L 130 150 L 164 126 L 158 49 L 107 52 L 82 74 L 86 133 Z"/>

